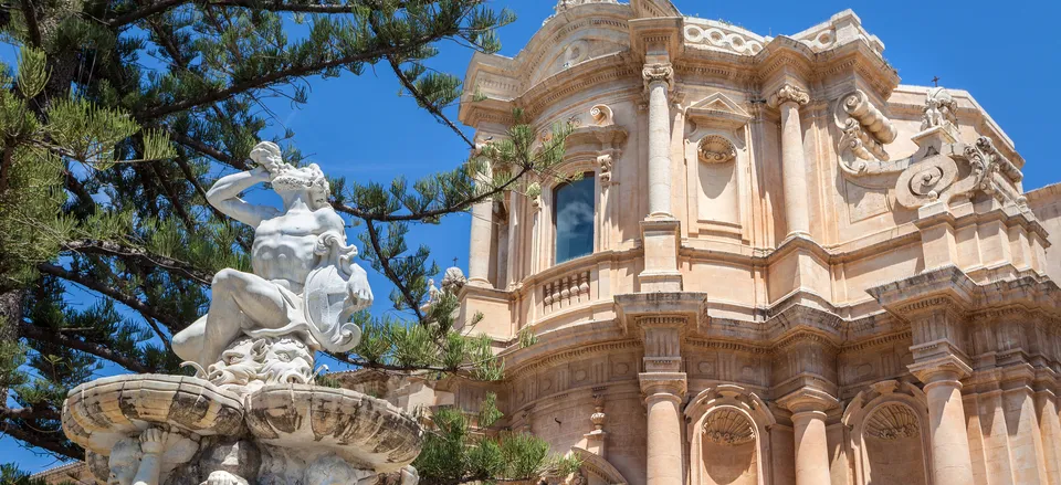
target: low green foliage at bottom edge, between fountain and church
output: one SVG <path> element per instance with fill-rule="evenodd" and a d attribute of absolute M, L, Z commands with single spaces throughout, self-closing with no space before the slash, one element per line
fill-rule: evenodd
<path fill-rule="evenodd" d="M 493 432 L 502 418 L 496 397 L 487 394 L 475 415 L 454 408 L 432 417 L 423 451 L 412 466 L 426 485 L 495 483 L 563 477 L 581 465 L 574 456 L 549 453 L 549 444 L 528 433 Z"/>

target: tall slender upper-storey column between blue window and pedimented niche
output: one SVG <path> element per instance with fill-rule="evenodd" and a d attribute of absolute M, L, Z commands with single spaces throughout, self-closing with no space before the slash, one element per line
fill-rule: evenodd
<path fill-rule="evenodd" d="M 641 71 L 649 97 L 649 217 L 672 218 L 671 108 L 668 92 L 674 77 L 670 63 L 645 64 Z"/>

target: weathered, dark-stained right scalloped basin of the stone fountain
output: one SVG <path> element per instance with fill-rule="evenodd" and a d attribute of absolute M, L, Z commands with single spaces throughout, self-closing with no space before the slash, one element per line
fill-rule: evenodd
<path fill-rule="evenodd" d="M 379 473 L 412 463 L 422 444 L 417 421 L 387 401 L 306 384 L 266 386 L 249 396 L 246 425 L 262 443 L 313 443 L 316 450 Z"/>

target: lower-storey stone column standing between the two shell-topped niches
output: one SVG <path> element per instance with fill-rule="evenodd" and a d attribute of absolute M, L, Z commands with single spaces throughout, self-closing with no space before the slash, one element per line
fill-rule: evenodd
<path fill-rule="evenodd" d="M 778 400 L 792 412 L 796 436 L 796 485 L 828 484 L 829 447 L 826 437 L 826 411 L 837 405 L 828 393 L 803 388 Z"/>

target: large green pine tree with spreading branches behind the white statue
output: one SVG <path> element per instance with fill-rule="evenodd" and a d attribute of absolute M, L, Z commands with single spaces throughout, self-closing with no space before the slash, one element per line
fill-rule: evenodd
<path fill-rule="evenodd" d="M 84 454 L 61 433 L 66 392 L 102 371 L 188 372 L 171 338 L 206 312 L 216 272 L 249 270 L 253 228 L 218 212 L 206 194 L 217 177 L 249 169 L 251 148 L 274 124 L 264 97 L 302 104 L 306 78 L 390 68 L 402 95 L 464 138 L 444 114 L 464 86 L 430 63 L 442 41 L 496 52 L 497 28 L 514 21 L 485 0 L 7 7 L 0 39 L 19 62 L 0 65 L 0 420 L 15 440 L 71 458 Z M 288 34 L 292 22 L 304 32 Z M 570 127 L 556 126 L 542 143 L 516 117 L 497 141 L 475 147 L 464 138 L 474 155 L 451 170 L 391 183 L 332 180 L 333 207 L 357 228 L 367 265 L 393 283 L 397 310 L 356 315 L 361 344 L 337 359 L 503 378 L 498 342 L 475 331 L 483 316 L 460 320 L 450 293 L 431 302 L 428 281 L 439 267 L 430 247 L 406 240 L 419 224 L 511 191 L 530 194 L 536 181 L 556 177 Z M 274 141 L 300 165 L 293 137 Z M 533 340 L 521 335 L 523 345 Z M 327 376 L 318 382 L 338 384 Z M 464 441 L 453 444 L 480 443 L 463 426 Z M 540 444 L 523 437 L 474 443 L 463 463 L 484 481 L 551 466 L 538 463 L 551 460 Z M 498 456 L 521 465 L 498 468 Z"/>

